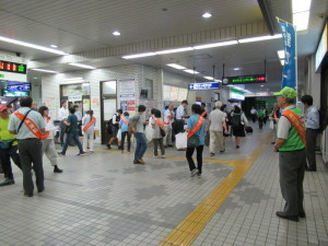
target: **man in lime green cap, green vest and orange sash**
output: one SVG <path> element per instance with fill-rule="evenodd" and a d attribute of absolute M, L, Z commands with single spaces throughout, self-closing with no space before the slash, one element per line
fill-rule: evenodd
<path fill-rule="evenodd" d="M 284 87 L 277 95 L 282 115 L 278 122 L 274 152 L 279 152 L 280 188 L 285 200 L 283 211 L 276 214 L 291 221 L 305 218 L 303 207 L 303 180 L 306 165 L 305 128 L 301 119 L 302 110 L 294 105 L 296 91 Z"/>

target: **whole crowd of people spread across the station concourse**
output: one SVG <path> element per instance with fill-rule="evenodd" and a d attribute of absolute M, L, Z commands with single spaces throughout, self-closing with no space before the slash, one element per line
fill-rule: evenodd
<path fill-rule="evenodd" d="M 295 106 L 295 90 L 284 87 L 276 95 L 278 103 L 273 105 L 271 114 L 268 114 L 265 108 L 256 110 L 255 107 L 250 113 L 253 120 L 257 118 L 260 122 L 260 129 L 262 122 L 270 120 L 271 142 L 274 144 L 274 152 L 279 152 L 280 187 L 286 203 L 277 215 L 298 221 L 298 218 L 305 218 L 304 172 L 315 172 L 317 168 L 316 140 L 325 124 L 321 122 L 319 110 L 313 105 L 311 95 L 301 98 L 305 114 Z M 147 117 L 148 110 L 144 105 L 139 105 L 138 112 L 131 117 L 128 112 L 118 109 L 108 122 L 107 129 L 112 136 L 107 144 L 108 149 L 112 149 L 117 141 L 118 149 L 124 153 L 127 140 L 127 151 L 130 153 L 133 134 L 136 140 L 133 164 L 140 165 L 145 164 L 143 155 L 150 140 L 153 142 L 154 157 L 165 159 L 165 149 L 173 147 L 175 138 L 177 140 L 185 136 L 184 149 L 190 175 L 201 177 L 204 145 L 209 144 L 211 156 L 216 154 L 216 149 L 223 154 L 225 138 L 234 136 L 236 149 L 239 149 L 241 139 L 246 136 L 245 130 L 249 128 L 249 124 L 237 105 L 227 112 L 226 105 L 218 101 L 215 107 L 209 113 L 204 104 L 192 104 L 190 115 L 187 113 L 187 106 L 188 102 L 183 101 L 176 110 L 173 105 L 165 107 L 164 112 L 152 108 L 150 117 Z M 94 151 L 96 118 L 93 110 L 87 110 L 83 116 L 78 106 L 68 108 L 67 102 L 62 102 L 58 112 L 60 119 L 58 132 L 49 118 L 49 108 L 40 106 L 36 109 L 28 96 L 20 98 L 20 108 L 15 112 L 0 104 L 0 161 L 4 173 L 4 181 L 0 186 L 14 184 L 12 159 L 23 173 L 24 195 L 27 197 L 32 197 L 34 192 L 32 169 L 35 173 L 37 191 L 45 190 L 43 155 L 49 160 L 55 173 L 62 173 L 58 167 L 57 156 L 66 156 L 68 145 L 72 141 L 79 149 L 78 155 L 84 155 L 87 149 L 90 153 Z M 145 129 L 151 129 L 148 137 Z M 79 139 L 79 131 L 83 132 L 83 144 Z M 62 145 L 62 150 L 58 153 L 54 141 L 56 137 L 60 138 Z M 195 151 L 197 165 L 192 159 Z"/>

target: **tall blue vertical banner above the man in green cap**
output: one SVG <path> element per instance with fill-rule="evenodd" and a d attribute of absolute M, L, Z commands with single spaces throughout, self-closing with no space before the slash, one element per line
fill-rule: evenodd
<path fill-rule="evenodd" d="M 279 21 L 280 31 L 284 45 L 284 66 L 282 72 L 281 87 L 296 86 L 296 32 L 291 24 Z"/>

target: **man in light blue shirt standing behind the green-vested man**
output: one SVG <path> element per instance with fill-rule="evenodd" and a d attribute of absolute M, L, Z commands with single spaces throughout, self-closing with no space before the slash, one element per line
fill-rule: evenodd
<path fill-rule="evenodd" d="M 301 98 L 301 102 L 304 105 L 306 110 L 305 120 L 306 120 L 306 159 L 307 166 L 306 171 L 316 172 L 317 162 L 316 162 L 316 144 L 317 137 L 320 129 L 320 116 L 319 110 L 316 106 L 313 105 L 313 97 L 311 95 L 304 95 Z"/>

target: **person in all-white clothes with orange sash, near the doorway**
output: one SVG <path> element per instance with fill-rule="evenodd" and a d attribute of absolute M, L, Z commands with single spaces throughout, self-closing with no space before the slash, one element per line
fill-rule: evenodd
<path fill-rule="evenodd" d="M 93 110 L 87 110 L 86 115 L 82 118 L 83 137 L 83 151 L 86 152 L 89 143 L 90 153 L 93 153 L 94 127 L 96 118 L 93 116 Z"/>

